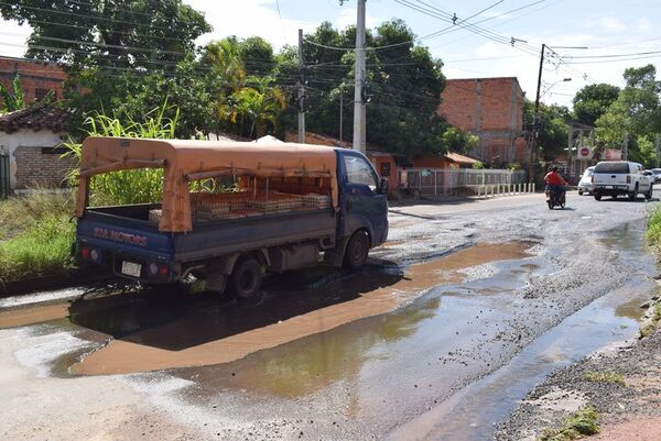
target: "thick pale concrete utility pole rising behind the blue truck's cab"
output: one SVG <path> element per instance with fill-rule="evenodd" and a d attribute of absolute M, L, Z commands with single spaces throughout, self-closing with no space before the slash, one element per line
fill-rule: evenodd
<path fill-rule="evenodd" d="M 365 7 L 367 0 L 356 0 L 358 20 L 356 23 L 356 84 L 354 90 L 354 150 L 365 153 L 366 110 L 365 110 Z"/>

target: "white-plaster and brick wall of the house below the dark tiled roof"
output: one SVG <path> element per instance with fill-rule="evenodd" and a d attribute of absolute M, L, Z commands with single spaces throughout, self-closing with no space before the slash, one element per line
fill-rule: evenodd
<path fill-rule="evenodd" d="M 9 154 L 10 188 L 61 187 L 71 159 L 58 154 L 42 153 L 43 147 L 53 148 L 62 143 L 63 133 L 47 130 L 35 132 L 21 129 L 13 133 L 0 132 L 0 152 Z"/>

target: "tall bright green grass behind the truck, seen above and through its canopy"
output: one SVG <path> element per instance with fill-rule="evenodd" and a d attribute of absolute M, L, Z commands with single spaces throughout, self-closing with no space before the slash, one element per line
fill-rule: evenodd
<path fill-rule="evenodd" d="M 160 108 L 136 118 L 130 113 L 113 113 L 111 117 L 96 112 L 85 120 L 88 136 L 112 136 L 171 140 L 175 136 L 180 111 L 175 109 L 173 118 L 165 118 L 167 100 Z M 82 157 L 82 144 L 68 140 L 68 148 L 63 156 L 75 158 L 75 168 L 68 175 L 72 184 L 78 179 Z M 160 168 L 140 168 L 121 170 L 93 176 L 89 184 L 89 202 L 91 206 L 129 205 L 160 202 L 163 191 L 163 170 Z"/>

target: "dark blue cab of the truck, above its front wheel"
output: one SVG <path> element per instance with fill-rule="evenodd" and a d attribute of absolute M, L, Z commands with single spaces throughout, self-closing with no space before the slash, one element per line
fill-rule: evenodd
<path fill-rule="evenodd" d="M 366 228 L 372 246 L 386 240 L 388 229 L 388 200 L 379 191 L 379 176 L 371 163 L 356 152 L 340 153 L 340 180 L 343 187 L 344 234 Z"/>

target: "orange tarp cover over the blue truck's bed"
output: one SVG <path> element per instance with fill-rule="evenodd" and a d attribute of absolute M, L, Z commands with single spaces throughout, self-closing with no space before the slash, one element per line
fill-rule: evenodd
<path fill-rule="evenodd" d="M 335 148 L 294 144 L 90 136 L 83 142 L 76 214 L 87 205 L 94 175 L 131 168 L 164 168 L 159 230 L 193 229 L 188 181 L 218 176 L 327 177 L 338 208 Z"/>

